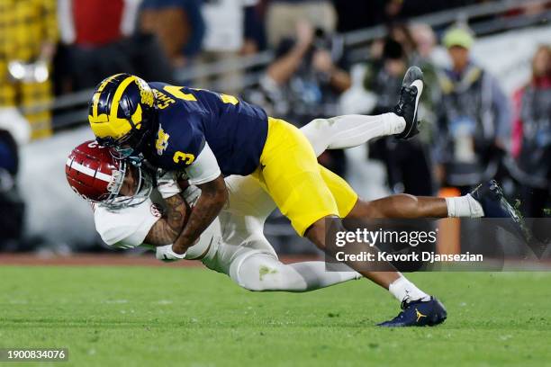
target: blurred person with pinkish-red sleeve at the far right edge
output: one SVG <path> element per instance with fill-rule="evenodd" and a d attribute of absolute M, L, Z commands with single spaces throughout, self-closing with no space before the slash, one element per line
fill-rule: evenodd
<path fill-rule="evenodd" d="M 532 78 L 514 95 L 516 118 L 511 174 L 521 183 L 520 208 L 530 218 L 544 216 L 551 197 L 551 47 L 540 46 Z"/>

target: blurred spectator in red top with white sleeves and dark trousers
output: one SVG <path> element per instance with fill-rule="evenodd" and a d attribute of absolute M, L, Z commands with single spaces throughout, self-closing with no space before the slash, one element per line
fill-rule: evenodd
<path fill-rule="evenodd" d="M 170 80 L 171 67 L 153 35 L 135 32 L 140 0 L 59 0 L 65 48 L 60 92 L 97 85 L 116 73 Z"/>

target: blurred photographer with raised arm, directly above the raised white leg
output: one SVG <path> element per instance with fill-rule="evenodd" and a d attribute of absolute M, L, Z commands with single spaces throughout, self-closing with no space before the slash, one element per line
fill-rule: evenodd
<path fill-rule="evenodd" d="M 341 38 L 307 22 L 296 26 L 296 39 L 285 39 L 276 50 L 276 59 L 261 81 L 262 93 L 249 99 L 266 111 L 299 126 L 315 118 L 340 114 L 339 95 L 350 85 L 348 60 Z M 333 150 L 320 158 L 339 175 L 344 175 L 344 153 Z"/>

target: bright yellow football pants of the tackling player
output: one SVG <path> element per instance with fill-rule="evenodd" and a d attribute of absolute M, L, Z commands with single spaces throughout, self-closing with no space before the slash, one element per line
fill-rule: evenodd
<path fill-rule="evenodd" d="M 346 217 L 357 202 L 345 180 L 318 164 L 301 130 L 283 120 L 268 118 L 266 145 L 253 177 L 301 236 L 318 219 Z"/>

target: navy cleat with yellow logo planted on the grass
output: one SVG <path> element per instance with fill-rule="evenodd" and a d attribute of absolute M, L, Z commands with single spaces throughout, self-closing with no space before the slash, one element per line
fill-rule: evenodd
<path fill-rule="evenodd" d="M 430 300 L 402 301 L 402 312 L 392 320 L 377 324 L 379 327 L 434 327 L 446 320 L 444 305 L 434 297 Z"/>

